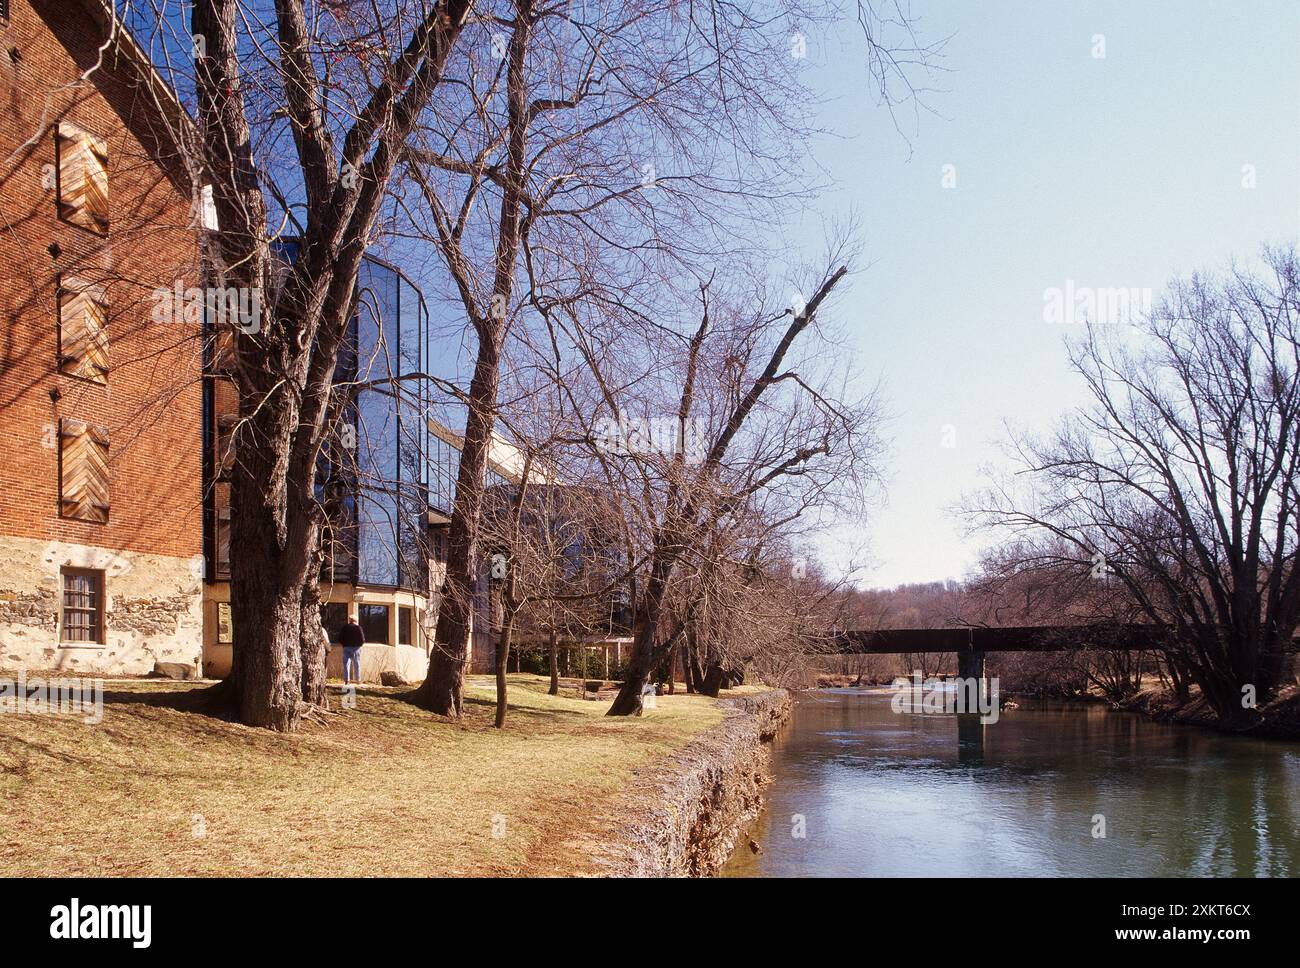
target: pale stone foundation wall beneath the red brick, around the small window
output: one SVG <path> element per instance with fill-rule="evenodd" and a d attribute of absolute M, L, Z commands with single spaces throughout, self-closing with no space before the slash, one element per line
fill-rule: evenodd
<path fill-rule="evenodd" d="M 104 644 L 60 644 L 61 568 L 104 572 Z M 143 676 L 202 655 L 202 557 L 0 537 L 0 669 Z"/>

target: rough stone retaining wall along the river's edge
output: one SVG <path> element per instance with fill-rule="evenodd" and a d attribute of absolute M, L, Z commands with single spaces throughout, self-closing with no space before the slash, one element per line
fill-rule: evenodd
<path fill-rule="evenodd" d="M 614 877 L 708 877 L 758 816 L 770 743 L 790 716 L 783 689 L 722 700 L 727 719 L 624 791 L 618 839 L 594 858 Z"/>

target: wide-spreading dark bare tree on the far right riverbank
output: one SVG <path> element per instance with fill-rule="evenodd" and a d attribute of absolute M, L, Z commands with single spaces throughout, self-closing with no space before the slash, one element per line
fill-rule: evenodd
<path fill-rule="evenodd" d="M 1015 443 L 1032 489 L 996 483 L 979 521 L 1037 567 L 1114 582 L 1228 726 L 1277 686 L 1300 622 L 1300 268 L 1175 281 L 1141 344 L 1071 346 L 1092 405 Z"/>

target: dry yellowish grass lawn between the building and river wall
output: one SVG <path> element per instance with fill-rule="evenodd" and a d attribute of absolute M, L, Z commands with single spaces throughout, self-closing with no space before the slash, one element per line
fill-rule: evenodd
<path fill-rule="evenodd" d="M 681 693 L 607 719 L 516 674 L 504 730 L 472 677 L 458 724 L 363 687 L 277 735 L 186 711 L 202 687 L 107 682 L 98 725 L 0 716 L 0 874 L 581 873 L 566 845 L 599 838 L 602 803 L 722 719 Z"/>

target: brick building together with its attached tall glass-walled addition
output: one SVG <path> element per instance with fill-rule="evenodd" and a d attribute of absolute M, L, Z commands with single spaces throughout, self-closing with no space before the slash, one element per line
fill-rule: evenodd
<path fill-rule="evenodd" d="M 230 669 L 235 391 L 200 321 L 157 298 L 199 291 L 191 136 L 110 0 L 0 0 L 0 669 Z M 419 287 L 373 256 L 358 287 L 342 373 L 430 372 Z M 417 392 L 358 394 L 348 453 L 322 468 L 322 621 L 361 624 L 368 680 L 422 677 L 434 642 L 460 439 Z M 519 482 L 504 440 L 489 463 L 489 486 Z M 480 585 L 471 668 L 489 672 Z"/>

